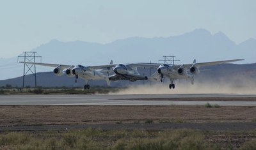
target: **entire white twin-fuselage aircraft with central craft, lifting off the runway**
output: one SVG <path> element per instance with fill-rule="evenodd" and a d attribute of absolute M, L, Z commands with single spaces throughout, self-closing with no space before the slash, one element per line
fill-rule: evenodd
<path fill-rule="evenodd" d="M 48 63 L 30 63 L 30 62 L 20 62 L 26 64 L 35 64 L 40 66 L 51 66 L 54 67 L 54 74 L 61 76 L 64 73 L 68 77 L 75 77 L 76 82 L 78 77 L 85 81 L 84 89 L 90 89 L 88 82 L 90 80 L 106 80 L 108 86 L 110 86 L 110 81 L 116 80 L 150 80 L 163 82 L 163 78 L 166 77 L 170 79 L 171 84 L 170 89 L 175 88 L 173 84 L 174 80 L 177 79 L 190 79 L 191 84 L 194 83 L 194 75 L 200 73 L 200 67 L 202 66 L 212 66 L 216 64 L 231 63 L 234 61 L 242 61 L 243 59 L 233 59 L 227 61 L 213 61 L 206 63 L 196 63 L 194 60 L 193 64 L 182 64 L 182 65 L 170 65 L 170 64 L 149 64 L 149 63 L 132 63 L 132 64 L 111 64 L 102 66 L 82 66 L 82 65 L 65 65 L 65 64 L 48 64 Z M 152 76 L 147 77 L 140 75 L 137 68 L 157 68 L 156 73 Z M 112 68 L 112 70 L 111 70 Z M 109 75 L 109 72 L 113 71 L 114 75 Z M 106 74 L 108 72 L 108 74 Z M 158 74 L 158 75 L 157 75 Z"/>

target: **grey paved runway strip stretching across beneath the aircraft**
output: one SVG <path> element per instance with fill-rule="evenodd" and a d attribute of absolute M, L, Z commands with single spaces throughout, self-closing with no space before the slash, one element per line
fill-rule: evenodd
<path fill-rule="evenodd" d="M 193 98 L 195 100 L 187 100 Z M 196 98 L 204 100 L 196 100 Z M 216 98 L 216 100 L 214 100 Z M 221 100 L 229 98 L 236 100 Z M 246 98 L 251 98 L 250 101 Z M 255 98 L 255 99 L 254 99 Z M 173 100 L 172 100 L 173 99 Z M 208 100 L 211 99 L 211 100 Z M 240 100 L 241 99 L 241 100 Z M 245 100 L 244 100 L 245 99 Z M 1 95 L 0 105 L 184 105 L 256 106 L 256 94 L 62 94 Z"/>

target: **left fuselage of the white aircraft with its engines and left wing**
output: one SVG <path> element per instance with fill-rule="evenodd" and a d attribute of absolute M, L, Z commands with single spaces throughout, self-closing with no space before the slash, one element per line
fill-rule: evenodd
<path fill-rule="evenodd" d="M 35 64 L 40 66 L 50 66 L 54 67 L 54 74 L 57 76 L 61 76 L 64 73 L 68 77 L 75 77 L 76 82 L 78 77 L 83 79 L 85 81 L 84 89 L 90 89 L 90 85 L 88 82 L 90 80 L 106 80 L 108 86 L 110 86 L 110 81 L 108 75 L 105 75 L 102 70 L 109 71 L 110 68 L 113 68 L 116 66 L 116 64 L 112 64 L 113 61 L 111 61 L 111 64 L 108 65 L 102 65 L 102 66 L 82 66 L 82 65 L 65 65 L 65 64 L 47 64 L 47 63 L 30 63 L 30 62 L 19 62 L 19 63 L 25 63 L 25 64 Z"/>

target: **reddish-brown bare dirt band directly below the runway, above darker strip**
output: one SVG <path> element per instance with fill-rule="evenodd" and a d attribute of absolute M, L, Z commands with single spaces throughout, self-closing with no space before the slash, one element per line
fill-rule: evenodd
<path fill-rule="evenodd" d="M 108 123 L 256 122 L 256 107 L 1 106 L 1 126 Z"/>

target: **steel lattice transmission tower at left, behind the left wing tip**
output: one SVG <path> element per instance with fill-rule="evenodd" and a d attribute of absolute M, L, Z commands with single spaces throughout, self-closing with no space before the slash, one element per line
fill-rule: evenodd
<path fill-rule="evenodd" d="M 18 56 L 18 61 L 24 61 L 24 68 L 23 68 L 23 88 L 25 85 L 25 76 L 31 72 L 35 77 L 35 87 L 36 87 L 36 65 L 35 64 L 28 64 L 28 63 L 36 63 L 38 59 L 42 62 L 42 57 L 38 56 L 36 52 L 23 52 L 20 56 Z"/>

